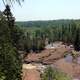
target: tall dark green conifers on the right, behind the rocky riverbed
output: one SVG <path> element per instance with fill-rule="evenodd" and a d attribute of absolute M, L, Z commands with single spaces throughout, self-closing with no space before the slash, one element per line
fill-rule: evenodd
<path fill-rule="evenodd" d="M 80 50 L 80 26 L 74 21 L 71 21 L 69 24 L 62 24 L 61 26 L 48 27 L 44 29 L 44 33 L 49 43 L 62 41 L 67 44 L 73 44 L 75 50 Z"/>

